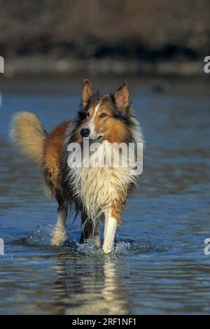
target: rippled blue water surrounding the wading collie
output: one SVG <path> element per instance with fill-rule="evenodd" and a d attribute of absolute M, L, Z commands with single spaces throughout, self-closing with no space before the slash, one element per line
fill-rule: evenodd
<path fill-rule="evenodd" d="M 105 92 L 117 82 L 96 81 Z M 49 246 L 57 204 L 8 144 L 16 111 L 36 112 L 48 131 L 73 118 L 79 81 L 1 80 L 1 314 L 210 313 L 209 81 L 172 80 L 167 94 L 148 80 L 128 82 L 146 139 L 144 173 L 104 255 L 92 241 L 78 244 L 79 221 L 69 221 L 66 246 Z"/>

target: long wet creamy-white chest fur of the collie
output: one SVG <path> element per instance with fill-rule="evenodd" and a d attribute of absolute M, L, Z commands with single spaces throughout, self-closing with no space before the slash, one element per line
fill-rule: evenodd
<path fill-rule="evenodd" d="M 75 158 L 68 160 L 69 178 L 73 193 L 82 202 L 87 216 L 97 220 L 105 211 L 108 211 L 111 202 L 120 195 L 126 195 L 130 183 L 136 177 L 131 175 L 131 169 L 127 167 L 113 167 L 111 165 L 113 153 L 107 153 L 103 142 L 94 152 L 89 153 L 88 158 L 83 158 L 81 166 L 72 166 Z M 107 146 L 107 144 L 106 144 Z M 109 155 L 111 158 L 109 158 Z"/>

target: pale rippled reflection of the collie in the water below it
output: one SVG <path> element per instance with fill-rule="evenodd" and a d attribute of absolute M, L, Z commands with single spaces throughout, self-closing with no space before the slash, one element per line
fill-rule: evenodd
<path fill-rule="evenodd" d="M 62 314 L 130 314 L 115 260 L 67 257 L 56 266 L 55 299 Z"/>

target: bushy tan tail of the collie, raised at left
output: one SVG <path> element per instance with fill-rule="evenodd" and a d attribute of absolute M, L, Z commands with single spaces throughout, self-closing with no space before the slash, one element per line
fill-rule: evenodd
<path fill-rule="evenodd" d="M 10 139 L 18 151 L 29 160 L 41 165 L 43 158 L 45 132 L 36 114 L 29 112 L 16 113 L 10 125 Z"/>

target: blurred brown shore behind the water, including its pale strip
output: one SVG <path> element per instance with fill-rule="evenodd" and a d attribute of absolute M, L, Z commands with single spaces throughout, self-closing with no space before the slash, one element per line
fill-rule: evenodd
<path fill-rule="evenodd" d="M 0 8 L 7 77 L 205 75 L 208 0 L 0 0 Z"/>

